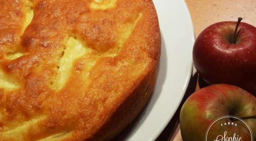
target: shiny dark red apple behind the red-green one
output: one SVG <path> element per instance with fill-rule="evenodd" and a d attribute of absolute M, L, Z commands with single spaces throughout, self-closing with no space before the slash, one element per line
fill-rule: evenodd
<path fill-rule="evenodd" d="M 256 27 L 241 22 L 237 42 L 231 44 L 237 22 L 215 23 L 200 33 L 193 61 L 209 84 L 231 84 L 256 93 Z"/>

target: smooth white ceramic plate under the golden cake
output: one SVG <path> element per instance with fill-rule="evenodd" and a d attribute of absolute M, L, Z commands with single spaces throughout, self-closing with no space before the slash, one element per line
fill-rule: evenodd
<path fill-rule="evenodd" d="M 175 114 L 192 73 L 195 40 L 183 0 L 153 0 L 162 36 L 156 87 L 146 108 L 126 133 L 125 141 L 154 141 Z"/>

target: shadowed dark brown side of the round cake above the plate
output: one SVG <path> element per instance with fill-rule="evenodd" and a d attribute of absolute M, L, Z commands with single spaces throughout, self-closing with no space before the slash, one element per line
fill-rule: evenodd
<path fill-rule="evenodd" d="M 103 127 L 88 141 L 109 141 L 139 114 L 151 96 L 156 81 L 157 67 L 111 115 Z M 86 140 L 87 141 L 87 140 Z"/>

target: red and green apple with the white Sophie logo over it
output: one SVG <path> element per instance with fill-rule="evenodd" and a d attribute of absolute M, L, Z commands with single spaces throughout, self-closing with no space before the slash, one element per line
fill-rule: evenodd
<path fill-rule="evenodd" d="M 193 93 L 185 101 L 180 112 L 180 128 L 183 141 L 205 141 L 205 134 L 210 124 L 221 116 L 233 115 L 240 118 L 256 115 L 256 97 L 238 88 L 227 84 L 216 84 L 202 88 Z M 230 119 L 220 122 L 231 122 Z M 234 121 L 234 123 L 238 123 Z M 256 137 L 256 119 L 245 119 Z M 220 125 L 218 123 L 218 125 Z M 239 130 L 239 131 L 238 131 Z M 234 131 L 243 136 L 243 141 L 248 130 L 241 126 L 212 127 L 208 132 L 211 141 L 216 140 L 217 135 L 223 135 L 224 131 Z"/>

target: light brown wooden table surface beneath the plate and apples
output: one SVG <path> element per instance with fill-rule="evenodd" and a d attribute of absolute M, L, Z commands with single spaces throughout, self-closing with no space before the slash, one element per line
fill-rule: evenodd
<path fill-rule="evenodd" d="M 188 5 L 196 37 L 208 26 L 221 21 L 243 21 L 256 26 L 256 1 L 255 0 L 185 0 Z M 207 84 L 193 69 L 193 75 L 186 90 L 184 99 L 173 119 L 156 141 L 182 141 L 179 129 L 179 112 L 182 104 L 190 94 Z"/>

